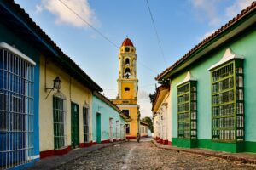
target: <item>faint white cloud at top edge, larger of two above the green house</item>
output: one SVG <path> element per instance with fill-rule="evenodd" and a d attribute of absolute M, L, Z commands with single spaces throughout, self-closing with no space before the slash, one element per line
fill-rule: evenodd
<path fill-rule="evenodd" d="M 218 26 L 221 20 L 218 17 L 217 4 L 219 0 L 190 0 L 199 18 L 209 20 L 209 26 Z"/>

